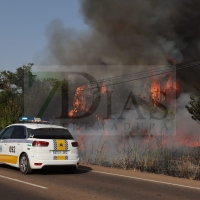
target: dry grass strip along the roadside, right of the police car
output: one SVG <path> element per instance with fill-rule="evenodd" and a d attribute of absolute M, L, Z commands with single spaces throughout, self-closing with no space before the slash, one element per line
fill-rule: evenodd
<path fill-rule="evenodd" d="M 107 140 L 107 137 L 102 136 L 95 141 L 87 138 L 81 144 L 81 162 L 200 179 L 200 150 L 198 149 L 189 148 L 190 151 L 183 151 L 173 145 L 163 145 L 162 136 L 155 140 L 150 135 L 145 139 L 126 135 L 125 140 L 115 146 L 111 153 L 108 152 Z"/>

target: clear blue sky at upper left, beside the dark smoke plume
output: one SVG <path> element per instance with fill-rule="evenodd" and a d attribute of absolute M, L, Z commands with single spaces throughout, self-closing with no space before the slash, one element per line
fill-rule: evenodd
<path fill-rule="evenodd" d="M 79 0 L 0 0 L 0 71 L 37 63 L 47 44 L 45 30 L 55 19 L 67 28 L 87 29 Z"/>

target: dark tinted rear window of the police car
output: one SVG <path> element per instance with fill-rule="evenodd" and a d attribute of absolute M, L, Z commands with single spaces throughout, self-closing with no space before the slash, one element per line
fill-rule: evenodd
<path fill-rule="evenodd" d="M 67 129 L 60 128 L 28 128 L 28 134 L 29 138 L 73 140 L 72 135 Z"/>

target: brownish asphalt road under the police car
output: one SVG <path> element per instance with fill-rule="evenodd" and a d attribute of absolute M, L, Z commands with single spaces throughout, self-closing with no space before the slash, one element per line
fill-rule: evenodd
<path fill-rule="evenodd" d="M 0 165 L 2 200 L 70 199 L 200 199 L 200 190 L 137 180 L 78 169 L 76 174 L 62 170 L 35 171 L 22 175 L 18 169 Z"/>

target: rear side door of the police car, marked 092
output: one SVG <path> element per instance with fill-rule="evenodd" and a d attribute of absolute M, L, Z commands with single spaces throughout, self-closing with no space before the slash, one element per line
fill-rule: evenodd
<path fill-rule="evenodd" d="M 22 145 L 26 139 L 26 129 L 24 126 L 15 126 L 14 131 L 10 137 L 10 143 L 8 145 L 8 160 L 7 162 L 13 165 L 17 164 Z"/>

